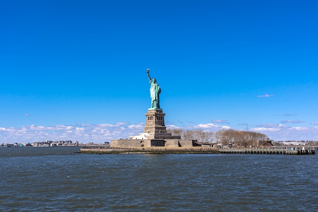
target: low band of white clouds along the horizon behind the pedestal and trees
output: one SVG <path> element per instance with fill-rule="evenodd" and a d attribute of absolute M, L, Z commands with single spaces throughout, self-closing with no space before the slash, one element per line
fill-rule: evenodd
<path fill-rule="evenodd" d="M 318 123 L 311 123 L 318 125 Z M 193 126 L 175 126 L 167 125 L 171 129 L 203 129 L 206 131 L 218 131 L 222 129 L 231 129 L 228 125 L 217 125 L 213 123 L 199 124 Z M 36 126 L 28 125 L 20 128 L 0 127 L 0 140 L 9 140 L 14 142 L 39 142 L 44 140 L 72 140 L 80 143 L 103 143 L 112 139 L 129 138 L 129 136 L 139 135 L 143 132 L 144 124 L 129 123 L 116 124 L 80 124 L 74 126 L 56 125 L 56 126 Z M 266 124 L 250 128 L 250 131 L 266 134 L 273 140 L 318 140 L 318 126 L 300 127 L 287 126 L 283 124 Z"/>

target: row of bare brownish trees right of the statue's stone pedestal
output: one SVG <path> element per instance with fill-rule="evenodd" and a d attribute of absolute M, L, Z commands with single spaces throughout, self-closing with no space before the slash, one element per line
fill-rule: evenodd
<path fill-rule="evenodd" d="M 267 135 L 243 130 L 219 130 L 217 132 L 184 129 L 167 129 L 172 135 L 181 136 L 181 139 L 198 140 L 199 143 L 219 143 L 222 146 L 232 147 L 257 147 L 266 143 Z"/>

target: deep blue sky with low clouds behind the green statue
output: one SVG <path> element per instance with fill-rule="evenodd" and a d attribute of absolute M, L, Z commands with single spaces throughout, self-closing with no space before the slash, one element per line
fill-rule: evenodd
<path fill-rule="evenodd" d="M 0 2 L 0 139 L 143 132 L 150 76 L 169 128 L 318 140 L 317 1 Z"/>

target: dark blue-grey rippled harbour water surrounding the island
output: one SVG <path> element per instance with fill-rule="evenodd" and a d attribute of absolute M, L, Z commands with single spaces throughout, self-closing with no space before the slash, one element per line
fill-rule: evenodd
<path fill-rule="evenodd" d="M 1 147 L 0 211 L 318 211 L 317 155 Z"/>

